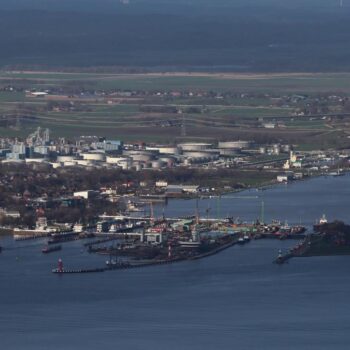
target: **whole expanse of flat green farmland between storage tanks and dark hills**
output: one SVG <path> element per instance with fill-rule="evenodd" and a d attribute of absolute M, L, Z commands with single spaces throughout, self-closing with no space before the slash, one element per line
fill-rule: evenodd
<path fill-rule="evenodd" d="M 14 87 L 15 92 L 8 87 Z M 297 94 L 350 94 L 350 74 L 98 74 L 64 72 L 0 72 L 0 115 L 9 126 L 0 127 L 0 136 L 25 136 L 37 126 L 49 127 L 54 136 L 98 135 L 123 140 L 172 142 L 181 139 L 180 125 L 185 121 L 186 140 L 254 139 L 288 142 L 310 148 L 329 147 L 342 140 L 349 143 L 346 128 L 329 132 L 325 120 L 292 118 L 290 106 L 271 104 L 274 96 Z M 65 101 L 79 108 L 49 110 L 47 98 L 26 97 L 25 90 L 61 91 L 143 91 L 141 97 L 83 96 Z M 174 98 L 156 92 L 193 92 L 193 97 Z M 254 94 L 225 99 L 199 97 L 207 92 Z M 270 96 L 270 97 L 266 97 Z M 271 97 L 272 96 L 272 97 Z M 88 97 L 88 98 L 87 98 Z M 110 101 L 112 99 L 112 101 Z M 50 98 L 50 101 L 55 98 Z M 60 99 L 57 97 L 57 100 Z M 145 111 L 144 106 L 195 107 L 197 113 Z M 22 119 L 22 116 L 32 118 Z M 20 118 L 14 126 L 14 121 Z M 285 129 L 258 128 L 259 121 L 281 121 Z M 171 125 L 168 125 L 168 124 Z M 310 146 L 311 145 L 311 146 Z"/>

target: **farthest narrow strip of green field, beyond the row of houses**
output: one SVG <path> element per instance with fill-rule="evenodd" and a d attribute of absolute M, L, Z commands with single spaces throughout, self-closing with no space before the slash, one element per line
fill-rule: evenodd
<path fill-rule="evenodd" d="M 88 84 L 100 89 L 124 90 L 217 90 L 262 93 L 350 92 L 350 73 L 305 74 L 94 74 L 52 72 L 0 72 L 0 82 L 17 80 L 35 86 Z"/>

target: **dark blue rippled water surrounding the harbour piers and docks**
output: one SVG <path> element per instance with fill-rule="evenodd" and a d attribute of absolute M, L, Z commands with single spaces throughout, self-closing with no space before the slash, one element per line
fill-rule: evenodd
<path fill-rule="evenodd" d="M 221 211 L 253 220 L 263 196 L 267 219 L 347 220 L 349 184 L 344 176 L 250 191 L 241 195 L 260 198 L 226 199 Z M 171 202 L 166 215 L 194 208 Z M 348 349 L 350 257 L 277 266 L 278 249 L 295 242 L 261 240 L 199 261 L 57 276 L 50 269 L 59 256 L 72 268 L 104 257 L 88 255 L 81 242 L 43 255 L 43 242 L 1 240 L 22 247 L 0 254 L 1 349 Z"/>

